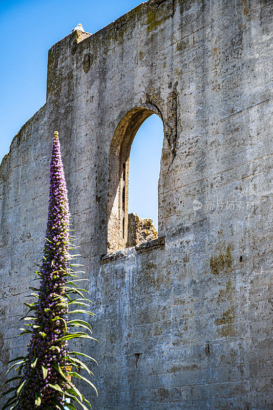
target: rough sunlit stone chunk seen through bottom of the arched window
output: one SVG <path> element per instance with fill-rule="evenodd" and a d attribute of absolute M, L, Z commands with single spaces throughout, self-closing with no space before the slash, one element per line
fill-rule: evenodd
<path fill-rule="evenodd" d="M 147 242 L 158 237 L 152 219 L 140 218 L 135 212 L 128 215 L 127 248 L 135 247 L 138 243 Z"/>

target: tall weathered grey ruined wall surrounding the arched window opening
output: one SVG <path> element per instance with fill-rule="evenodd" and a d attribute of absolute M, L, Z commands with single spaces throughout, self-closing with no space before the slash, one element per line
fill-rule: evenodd
<path fill-rule="evenodd" d="M 3 381 L 23 348 L 58 130 L 97 314 L 94 410 L 271 408 L 271 28 L 266 0 L 150 0 L 50 49 L 47 103 L 1 165 Z M 164 125 L 158 239 L 124 249 L 121 178 L 152 113 Z"/>

